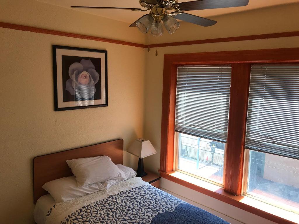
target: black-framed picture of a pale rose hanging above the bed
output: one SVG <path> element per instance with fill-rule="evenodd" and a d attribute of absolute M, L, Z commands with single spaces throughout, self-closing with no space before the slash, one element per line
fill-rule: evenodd
<path fill-rule="evenodd" d="M 53 45 L 55 111 L 108 106 L 107 51 Z"/>

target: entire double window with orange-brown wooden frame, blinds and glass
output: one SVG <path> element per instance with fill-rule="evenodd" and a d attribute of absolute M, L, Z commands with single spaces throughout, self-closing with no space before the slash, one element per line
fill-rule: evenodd
<path fill-rule="evenodd" d="M 165 55 L 161 177 L 275 223 L 298 222 L 299 65 L 290 64 L 299 64 L 298 50 Z M 194 66 L 215 64 L 218 66 Z M 225 78 L 222 74 L 227 67 L 230 76 Z M 195 79 L 195 73 L 187 74 L 195 68 L 201 80 Z M 180 69 L 184 74 L 180 74 Z M 219 74 L 213 77 L 222 77 L 222 81 L 214 79 L 216 82 L 211 82 L 209 75 L 213 73 Z M 209 83 L 214 84 L 207 86 Z M 219 97 L 222 100 L 213 98 L 216 93 L 223 96 Z M 208 97 L 198 100 L 199 96 Z M 217 103 L 210 106 L 213 102 Z M 225 116 L 229 117 L 228 122 L 222 122 Z M 218 178 L 221 169 L 214 173 L 216 175 L 203 170 L 209 165 L 219 165 L 215 155 L 216 152 L 222 154 L 222 150 L 225 159 L 221 182 Z M 207 158 L 207 154 L 214 154 L 214 157 Z M 202 167 L 204 157 L 207 166 L 197 169 L 197 163 Z M 222 156 L 217 155 L 219 157 Z"/>

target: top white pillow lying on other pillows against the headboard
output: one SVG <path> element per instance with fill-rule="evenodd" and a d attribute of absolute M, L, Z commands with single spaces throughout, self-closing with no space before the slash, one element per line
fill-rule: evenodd
<path fill-rule="evenodd" d="M 123 172 L 107 156 L 66 160 L 78 187 L 113 179 L 123 179 Z"/>

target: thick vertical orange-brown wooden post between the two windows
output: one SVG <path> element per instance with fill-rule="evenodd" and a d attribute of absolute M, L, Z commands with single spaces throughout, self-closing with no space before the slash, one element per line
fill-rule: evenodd
<path fill-rule="evenodd" d="M 224 190 L 242 194 L 250 64 L 232 64 L 228 136 L 225 151 Z"/>

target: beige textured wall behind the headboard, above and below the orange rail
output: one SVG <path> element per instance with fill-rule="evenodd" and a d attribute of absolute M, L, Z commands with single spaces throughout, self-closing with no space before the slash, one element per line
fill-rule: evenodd
<path fill-rule="evenodd" d="M 1 0 L 0 21 L 143 42 L 128 24 L 35 1 Z M 108 107 L 54 112 L 52 45 L 108 50 Z M 34 157 L 118 138 L 126 150 L 143 136 L 145 54 L 4 28 L 0 49 L 0 223 L 34 223 Z M 136 158 L 124 152 L 124 163 L 135 167 Z"/>

